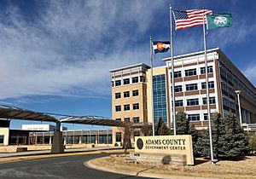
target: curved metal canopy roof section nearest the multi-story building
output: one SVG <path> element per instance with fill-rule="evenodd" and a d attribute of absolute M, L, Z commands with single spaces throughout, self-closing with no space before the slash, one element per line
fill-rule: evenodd
<path fill-rule="evenodd" d="M 125 122 L 116 121 L 116 120 L 104 118 L 101 116 L 68 117 L 68 118 L 62 118 L 60 121 L 61 123 L 71 123 L 71 124 L 92 124 L 92 125 L 125 127 Z"/>

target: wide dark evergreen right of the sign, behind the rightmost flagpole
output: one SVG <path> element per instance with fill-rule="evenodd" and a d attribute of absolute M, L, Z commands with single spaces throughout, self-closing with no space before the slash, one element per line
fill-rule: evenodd
<path fill-rule="evenodd" d="M 210 156 L 209 130 L 202 134 L 197 147 L 201 156 Z M 247 135 L 242 130 L 239 120 L 232 114 L 224 118 L 220 118 L 219 114 L 212 116 L 212 148 L 215 159 L 235 158 L 247 154 Z"/>

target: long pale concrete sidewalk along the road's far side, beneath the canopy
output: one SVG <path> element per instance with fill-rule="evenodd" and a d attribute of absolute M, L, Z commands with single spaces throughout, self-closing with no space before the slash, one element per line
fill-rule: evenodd
<path fill-rule="evenodd" d="M 118 150 L 122 152 L 121 147 L 91 147 L 91 148 L 69 148 L 65 149 L 64 153 L 53 154 L 50 153 L 50 150 L 42 151 L 27 151 L 20 153 L 0 153 L 0 163 L 19 161 L 24 159 L 41 159 L 47 157 L 58 157 L 58 156 L 67 156 L 67 155 L 76 155 L 84 154 L 88 152 L 104 151 L 104 152 L 113 152 Z"/>

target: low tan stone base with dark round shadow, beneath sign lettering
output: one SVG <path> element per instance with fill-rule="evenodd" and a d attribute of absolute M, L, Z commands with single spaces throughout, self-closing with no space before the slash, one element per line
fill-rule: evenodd
<path fill-rule="evenodd" d="M 131 153 L 137 162 L 151 162 L 163 165 L 187 165 L 186 155 L 165 153 Z"/>

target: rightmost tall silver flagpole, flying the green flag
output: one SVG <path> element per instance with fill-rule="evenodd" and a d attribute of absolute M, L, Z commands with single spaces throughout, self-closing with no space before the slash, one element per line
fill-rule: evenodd
<path fill-rule="evenodd" d="M 207 66 L 207 38 L 206 38 L 206 26 L 205 26 L 206 14 L 203 13 L 203 34 L 204 34 L 204 48 L 205 48 L 205 64 L 206 64 L 206 85 L 207 85 L 207 117 L 209 126 L 209 137 L 210 137 L 210 149 L 211 149 L 211 161 L 214 164 L 213 149 L 212 149 L 212 124 L 211 124 L 211 109 L 209 100 L 209 86 L 208 86 L 208 66 Z"/>

